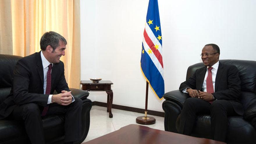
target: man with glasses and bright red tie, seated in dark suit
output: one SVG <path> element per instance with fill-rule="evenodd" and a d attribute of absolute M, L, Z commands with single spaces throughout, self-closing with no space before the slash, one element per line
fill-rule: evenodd
<path fill-rule="evenodd" d="M 189 93 L 180 114 L 179 133 L 190 135 L 198 115 L 211 115 L 211 134 L 217 141 L 225 142 L 228 116 L 243 115 L 239 102 L 240 78 L 237 67 L 219 62 L 220 49 L 208 44 L 202 49 L 205 67 L 181 83 L 179 90 Z"/>

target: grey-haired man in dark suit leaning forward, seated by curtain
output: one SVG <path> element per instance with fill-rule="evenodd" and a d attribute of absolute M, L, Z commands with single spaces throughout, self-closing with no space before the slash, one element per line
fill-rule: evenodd
<path fill-rule="evenodd" d="M 82 101 L 69 90 L 64 64 L 67 41 L 56 32 L 45 33 L 40 40 L 42 51 L 17 62 L 10 95 L 1 104 L 1 117 L 23 120 L 32 144 L 44 144 L 42 116 L 65 114 L 65 143 L 81 138 Z M 58 94 L 53 95 L 54 90 Z M 5 105 L 5 106 L 3 106 Z"/>

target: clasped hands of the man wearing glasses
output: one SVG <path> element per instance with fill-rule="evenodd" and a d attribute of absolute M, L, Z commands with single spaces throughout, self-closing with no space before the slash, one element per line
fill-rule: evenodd
<path fill-rule="evenodd" d="M 211 93 L 202 92 L 200 90 L 194 90 L 192 88 L 188 88 L 186 91 L 189 93 L 190 97 L 198 97 L 205 101 L 213 100 L 213 95 Z"/>

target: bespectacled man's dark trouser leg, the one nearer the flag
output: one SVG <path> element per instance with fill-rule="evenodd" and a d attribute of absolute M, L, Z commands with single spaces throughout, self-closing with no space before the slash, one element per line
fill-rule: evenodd
<path fill-rule="evenodd" d="M 186 99 L 180 114 L 179 133 L 191 135 L 197 116 L 207 113 L 210 113 L 209 102 L 192 97 Z"/>

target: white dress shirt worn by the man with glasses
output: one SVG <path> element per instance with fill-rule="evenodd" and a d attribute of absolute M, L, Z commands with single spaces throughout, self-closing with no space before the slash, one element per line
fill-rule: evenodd
<path fill-rule="evenodd" d="M 212 76 L 212 84 L 213 84 L 213 90 L 215 91 L 215 79 L 216 79 L 216 74 L 217 74 L 217 71 L 218 71 L 218 67 L 219 67 L 219 61 L 217 63 L 215 63 L 214 65 L 212 65 L 212 69 L 211 69 L 211 76 Z M 202 85 L 202 91 L 206 92 L 206 78 L 208 76 L 208 68 L 209 66 L 207 66 L 207 69 L 206 69 L 206 73 L 205 73 L 205 79 L 204 79 L 204 82 L 203 82 L 203 85 Z M 184 90 L 182 90 L 183 93 L 187 93 L 187 88 L 185 88 Z"/>

